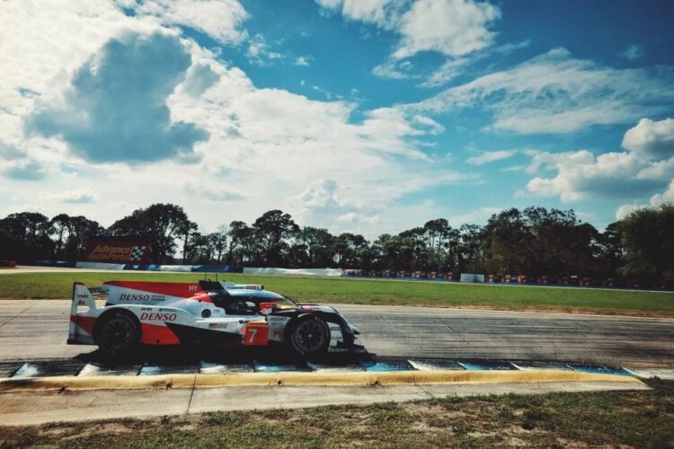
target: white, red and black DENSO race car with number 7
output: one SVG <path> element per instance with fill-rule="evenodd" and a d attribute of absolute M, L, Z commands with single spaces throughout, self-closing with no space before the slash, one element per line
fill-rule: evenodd
<path fill-rule="evenodd" d="M 103 307 L 93 294 L 107 296 Z M 117 356 L 141 344 L 278 342 L 312 357 L 365 352 L 359 333 L 333 307 L 297 304 L 260 285 L 111 280 L 98 291 L 75 282 L 67 343 Z"/>

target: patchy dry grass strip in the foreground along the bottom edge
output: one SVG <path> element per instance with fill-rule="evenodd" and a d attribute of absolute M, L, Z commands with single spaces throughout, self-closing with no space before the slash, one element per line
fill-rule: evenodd
<path fill-rule="evenodd" d="M 674 446 L 674 382 L 652 391 L 215 412 L 0 427 L 0 447 Z"/>

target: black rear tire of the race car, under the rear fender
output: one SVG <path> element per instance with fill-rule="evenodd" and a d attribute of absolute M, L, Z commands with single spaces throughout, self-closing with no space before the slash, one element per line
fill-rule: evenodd
<path fill-rule="evenodd" d="M 96 321 L 93 339 L 104 353 L 119 356 L 137 347 L 140 323 L 132 313 L 123 309 L 111 310 Z"/>

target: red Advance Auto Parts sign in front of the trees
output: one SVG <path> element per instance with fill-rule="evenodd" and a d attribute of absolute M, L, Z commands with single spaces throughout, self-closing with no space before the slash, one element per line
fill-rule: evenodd
<path fill-rule="evenodd" d="M 143 239 L 93 238 L 86 242 L 87 262 L 146 264 L 149 242 Z"/>

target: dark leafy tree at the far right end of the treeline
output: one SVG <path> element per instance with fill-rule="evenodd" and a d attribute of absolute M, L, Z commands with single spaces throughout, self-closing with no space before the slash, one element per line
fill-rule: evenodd
<path fill-rule="evenodd" d="M 674 205 L 636 210 L 617 226 L 625 248 L 620 272 L 649 284 L 674 284 Z"/>

